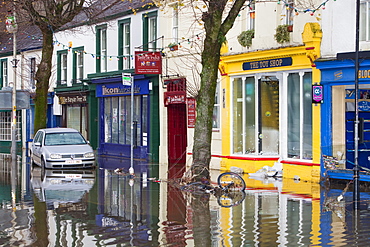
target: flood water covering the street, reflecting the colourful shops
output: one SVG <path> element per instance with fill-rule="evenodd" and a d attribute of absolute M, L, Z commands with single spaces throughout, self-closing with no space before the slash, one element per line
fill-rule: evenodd
<path fill-rule="evenodd" d="M 349 190 L 291 179 L 245 174 L 245 194 L 216 197 L 154 179 L 145 165 L 132 178 L 125 169 L 44 174 L 18 163 L 14 179 L 9 163 L 0 156 L 1 246 L 368 246 L 370 240 L 367 192 L 353 211 Z"/>

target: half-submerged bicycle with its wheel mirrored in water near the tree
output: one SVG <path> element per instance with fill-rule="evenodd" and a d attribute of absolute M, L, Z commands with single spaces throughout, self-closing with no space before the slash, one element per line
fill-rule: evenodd
<path fill-rule="evenodd" d="M 221 173 L 217 178 L 217 184 L 218 187 L 213 187 L 209 182 L 192 182 L 180 189 L 191 193 L 213 194 L 221 207 L 234 207 L 244 201 L 246 185 L 244 179 L 237 173 Z"/>

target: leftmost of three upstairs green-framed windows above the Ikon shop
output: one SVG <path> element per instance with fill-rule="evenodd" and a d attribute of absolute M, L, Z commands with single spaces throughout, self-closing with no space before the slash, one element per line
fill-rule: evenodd
<path fill-rule="evenodd" d="M 107 26 L 96 27 L 96 72 L 107 72 Z"/>

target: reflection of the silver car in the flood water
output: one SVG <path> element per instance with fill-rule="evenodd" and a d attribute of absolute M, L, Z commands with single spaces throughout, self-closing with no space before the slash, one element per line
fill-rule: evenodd
<path fill-rule="evenodd" d="M 48 207 L 79 202 L 93 187 L 95 170 L 49 170 L 33 166 L 31 185 L 34 194 Z"/>

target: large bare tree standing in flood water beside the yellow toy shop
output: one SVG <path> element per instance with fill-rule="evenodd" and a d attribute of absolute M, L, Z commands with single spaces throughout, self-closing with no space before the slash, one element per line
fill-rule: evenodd
<path fill-rule="evenodd" d="M 154 0 L 157 6 L 165 6 L 172 1 Z M 188 0 L 179 1 L 182 8 L 192 8 L 196 22 L 204 26 L 205 37 L 201 51 L 201 72 L 199 90 L 196 93 L 197 116 L 194 130 L 193 178 L 209 179 L 211 161 L 212 116 L 215 103 L 218 66 L 221 46 L 226 34 L 247 0 Z M 249 1 L 248 1 L 249 2 Z"/>

